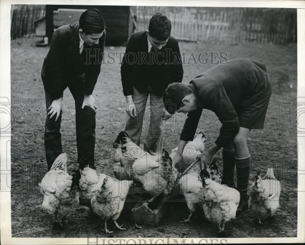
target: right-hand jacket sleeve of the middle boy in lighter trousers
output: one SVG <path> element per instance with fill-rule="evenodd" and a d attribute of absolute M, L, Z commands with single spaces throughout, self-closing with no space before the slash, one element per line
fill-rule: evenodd
<path fill-rule="evenodd" d="M 183 79 L 183 67 L 182 67 L 179 43 L 177 40 L 175 42 L 175 48 L 173 49 L 172 55 L 173 55 L 172 59 L 174 61 L 174 64 L 171 65 L 171 69 L 170 69 L 170 83 L 181 83 Z"/>

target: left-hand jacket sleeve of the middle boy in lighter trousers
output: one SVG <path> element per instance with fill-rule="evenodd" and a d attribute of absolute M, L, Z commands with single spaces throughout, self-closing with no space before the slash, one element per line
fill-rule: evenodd
<path fill-rule="evenodd" d="M 133 64 L 136 50 L 134 36 L 131 34 L 121 64 L 121 79 L 124 96 L 133 95 Z"/>

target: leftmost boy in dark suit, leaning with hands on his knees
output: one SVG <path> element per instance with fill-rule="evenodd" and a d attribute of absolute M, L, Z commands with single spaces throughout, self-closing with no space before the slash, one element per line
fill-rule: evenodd
<path fill-rule="evenodd" d="M 69 87 L 75 101 L 78 162 L 94 167 L 95 99 L 92 96 L 101 70 L 106 31 L 101 13 L 88 9 L 79 22 L 56 29 L 43 62 L 47 118 L 45 152 L 48 169 L 62 153 L 61 114 L 63 91 Z"/>

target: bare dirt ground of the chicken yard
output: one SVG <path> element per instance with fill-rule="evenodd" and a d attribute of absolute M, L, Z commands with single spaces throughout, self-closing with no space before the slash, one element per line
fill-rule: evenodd
<path fill-rule="evenodd" d="M 158 227 L 143 225 L 135 228 L 130 221 L 130 210 L 135 202 L 126 202 L 118 219 L 125 224 L 126 231 L 113 229 L 114 233 L 106 235 L 101 229 L 103 222 L 90 214 L 89 209 L 80 206 L 70 214 L 66 228 L 61 233 L 52 231 L 53 217 L 41 208 L 43 196 L 38 182 L 47 172 L 44 154 L 45 95 L 41 81 L 41 66 L 48 47 L 35 47 L 38 38 L 16 39 L 11 41 L 11 100 L 18 100 L 24 106 L 24 121 L 15 121 L 11 140 L 11 218 L 12 234 L 23 232 L 13 237 L 215 237 L 216 225 L 211 225 L 204 218 L 203 211 L 198 210 L 192 217 L 192 223 L 179 223 L 188 217 L 188 209 L 183 198 L 170 203 L 169 211 Z M 297 91 L 297 49 L 296 44 L 276 46 L 273 44 L 240 43 L 207 44 L 180 43 L 181 52 L 227 52 L 228 59 L 246 57 L 266 64 L 272 80 L 271 96 L 264 130 L 250 132 L 248 145 L 252 157 L 249 184 L 254 180 L 258 170 L 266 172 L 269 158 L 267 151 L 260 152 L 260 147 L 270 146 L 272 158 L 282 166 L 276 177 L 282 183 L 280 208 L 273 219 L 258 225 L 256 217 L 249 210 L 226 224 L 228 237 L 296 237 L 297 235 L 297 143 L 296 138 L 286 139 L 286 134 L 279 132 L 279 127 L 289 130 L 289 117 L 282 118 L 279 105 L 283 99 L 296 98 Z M 125 47 L 106 47 L 105 52 L 124 52 Z M 185 64 L 183 82 L 211 68 L 207 64 Z M 95 161 L 98 170 L 113 176 L 112 161 L 108 149 L 116 139 L 118 132 L 124 129 L 126 121 L 125 99 L 120 81 L 120 64 L 103 64 L 93 95 L 96 98 L 96 147 Z M 16 102 L 17 103 L 17 102 Z M 68 154 L 68 170 L 78 165 L 75 110 L 72 95 L 68 90 L 63 97 L 62 143 L 63 151 Z M 281 116 L 281 120 L 279 118 Z M 178 144 L 179 133 L 187 116 L 178 114 L 166 122 L 167 137 L 165 144 Z M 280 123 L 280 125 L 279 125 Z M 204 110 L 198 125 L 207 135 L 206 146 L 212 145 L 217 138 L 220 122 L 210 111 Z M 291 135 L 293 136 L 293 134 Z M 286 146 L 288 152 L 282 148 Z M 285 150 L 284 150 L 285 151 Z M 284 155 L 284 157 L 282 155 Z M 222 172 L 221 151 L 216 154 Z M 281 165 L 282 164 L 282 165 Z M 280 168 L 280 167 L 279 167 Z M 283 174 L 284 173 L 284 174 Z M 289 173 L 289 174 L 285 174 Z M 179 197 L 178 197 L 179 198 Z M 130 199 L 130 198 L 129 198 Z M 109 227 L 114 225 L 109 221 Z M 73 228 L 71 228 L 73 227 Z"/>

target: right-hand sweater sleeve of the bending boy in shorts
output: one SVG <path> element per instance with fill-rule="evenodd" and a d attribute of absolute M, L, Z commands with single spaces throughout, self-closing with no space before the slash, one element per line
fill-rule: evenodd
<path fill-rule="evenodd" d="M 222 129 L 215 143 L 219 147 L 224 147 L 239 131 L 238 115 L 222 85 L 214 86 L 206 91 L 203 98 L 205 98 L 207 109 L 212 110 L 222 123 Z"/>

